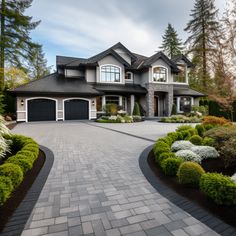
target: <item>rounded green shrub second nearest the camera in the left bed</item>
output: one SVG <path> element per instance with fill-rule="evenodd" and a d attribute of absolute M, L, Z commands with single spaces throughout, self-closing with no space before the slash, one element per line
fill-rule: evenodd
<path fill-rule="evenodd" d="M 18 165 L 6 163 L 0 166 L 0 176 L 11 179 L 13 187 L 17 187 L 23 180 L 23 172 Z"/>

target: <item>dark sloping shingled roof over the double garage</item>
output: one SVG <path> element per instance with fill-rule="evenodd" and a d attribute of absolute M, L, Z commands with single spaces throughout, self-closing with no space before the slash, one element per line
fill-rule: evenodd
<path fill-rule="evenodd" d="M 14 94 L 76 94 L 76 95 L 99 95 L 101 92 L 95 90 L 92 85 L 86 83 L 85 79 L 65 78 L 56 73 L 50 74 L 9 90 Z"/>

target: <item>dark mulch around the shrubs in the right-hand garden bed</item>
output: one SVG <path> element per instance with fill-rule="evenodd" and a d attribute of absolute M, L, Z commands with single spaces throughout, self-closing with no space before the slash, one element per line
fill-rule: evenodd
<path fill-rule="evenodd" d="M 176 177 L 166 176 L 160 167 L 156 164 L 154 154 L 151 151 L 147 158 L 148 165 L 155 174 L 155 176 L 166 186 L 174 190 L 179 195 L 187 198 L 189 201 L 196 203 L 201 208 L 215 215 L 225 223 L 236 228 L 236 206 L 220 206 L 216 205 L 212 200 L 207 198 L 198 189 L 187 188 L 178 183 Z M 219 160 L 218 160 L 219 162 Z M 209 172 L 215 172 L 220 169 L 220 164 L 217 164 L 216 160 L 206 160 L 203 162 L 203 168 L 205 167 Z M 222 166 L 221 166 L 222 169 Z M 224 170 L 224 173 L 231 173 L 232 169 Z M 234 168 L 235 172 L 235 168 Z M 233 172 L 233 173 L 234 173 Z"/>

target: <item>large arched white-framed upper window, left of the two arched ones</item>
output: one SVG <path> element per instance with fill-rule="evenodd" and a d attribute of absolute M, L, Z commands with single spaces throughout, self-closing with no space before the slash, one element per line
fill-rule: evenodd
<path fill-rule="evenodd" d="M 119 83 L 121 82 L 120 68 L 113 65 L 101 67 L 101 82 Z"/>

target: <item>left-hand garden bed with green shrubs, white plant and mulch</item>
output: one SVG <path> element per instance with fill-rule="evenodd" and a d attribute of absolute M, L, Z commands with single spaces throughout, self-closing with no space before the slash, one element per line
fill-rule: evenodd
<path fill-rule="evenodd" d="M 0 117 L 1 118 L 1 117 Z M 11 134 L 0 120 L 0 232 L 25 198 L 45 162 L 29 137 Z"/>

